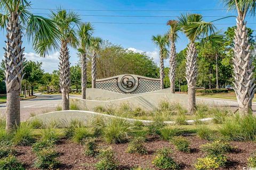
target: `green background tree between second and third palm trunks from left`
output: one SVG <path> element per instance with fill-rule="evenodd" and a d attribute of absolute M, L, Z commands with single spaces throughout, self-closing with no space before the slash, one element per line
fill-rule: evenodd
<path fill-rule="evenodd" d="M 78 65 L 70 67 L 70 80 L 71 80 L 71 87 L 76 88 L 76 92 L 78 93 L 78 89 L 81 88 L 81 67 Z"/>

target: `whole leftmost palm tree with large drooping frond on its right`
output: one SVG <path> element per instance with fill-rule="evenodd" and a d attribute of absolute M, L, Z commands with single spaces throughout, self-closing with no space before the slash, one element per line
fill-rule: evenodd
<path fill-rule="evenodd" d="M 25 61 L 25 47 L 22 47 L 23 32 L 41 56 L 45 56 L 51 48 L 57 48 L 53 37 L 59 33 L 52 20 L 30 13 L 30 2 L 26 0 L 2 0 L 0 7 L 3 12 L 0 14 L 0 25 L 7 32 L 4 48 L 6 131 L 11 132 L 20 124 L 20 90 Z"/>

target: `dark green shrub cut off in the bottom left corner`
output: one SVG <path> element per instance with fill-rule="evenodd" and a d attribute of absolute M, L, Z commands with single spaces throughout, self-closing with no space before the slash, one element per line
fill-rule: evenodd
<path fill-rule="evenodd" d="M 25 170 L 25 167 L 17 158 L 10 155 L 6 158 L 0 159 L 1 170 Z"/>

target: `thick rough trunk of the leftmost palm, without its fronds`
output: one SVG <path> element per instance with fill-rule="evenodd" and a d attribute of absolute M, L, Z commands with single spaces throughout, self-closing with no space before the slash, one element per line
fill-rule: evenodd
<path fill-rule="evenodd" d="M 5 83 L 6 83 L 6 131 L 11 132 L 16 125 L 20 124 L 20 91 L 21 81 L 24 76 L 22 71 L 25 60 L 23 55 L 22 32 L 19 24 L 19 15 L 12 13 L 7 23 L 7 41 L 5 50 Z"/>

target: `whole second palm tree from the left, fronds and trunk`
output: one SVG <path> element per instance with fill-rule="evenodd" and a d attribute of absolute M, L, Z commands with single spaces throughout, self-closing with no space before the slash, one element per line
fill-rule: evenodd
<path fill-rule="evenodd" d="M 60 31 L 60 87 L 62 93 L 62 111 L 69 109 L 69 87 L 70 87 L 70 62 L 68 46 L 76 47 L 78 39 L 74 27 L 77 26 L 81 19 L 76 13 L 58 9 L 52 11 L 51 18 L 57 23 Z"/>

